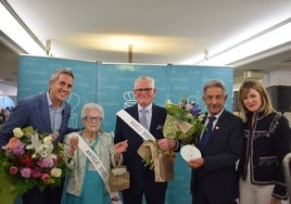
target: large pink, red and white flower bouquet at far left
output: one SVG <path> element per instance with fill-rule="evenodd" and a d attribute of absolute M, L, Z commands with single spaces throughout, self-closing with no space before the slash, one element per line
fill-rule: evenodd
<path fill-rule="evenodd" d="M 56 135 L 40 135 L 33 127 L 13 133 L 0 152 L 0 200 L 7 204 L 33 188 L 58 187 L 68 174 Z"/>

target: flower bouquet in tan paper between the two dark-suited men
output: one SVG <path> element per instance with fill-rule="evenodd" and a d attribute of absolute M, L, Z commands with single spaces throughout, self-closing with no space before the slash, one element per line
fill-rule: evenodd
<path fill-rule="evenodd" d="M 177 139 L 182 144 L 199 142 L 201 132 L 204 130 L 203 120 L 205 114 L 201 112 L 194 102 L 187 102 L 186 98 L 180 103 L 173 104 L 166 101 L 167 117 L 163 127 L 165 138 Z"/>

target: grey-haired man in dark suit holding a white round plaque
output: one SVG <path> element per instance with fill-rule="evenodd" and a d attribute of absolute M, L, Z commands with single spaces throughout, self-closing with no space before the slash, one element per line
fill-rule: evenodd
<path fill-rule="evenodd" d="M 204 85 L 203 101 L 208 110 L 205 125 L 211 117 L 214 122 L 208 137 L 201 137 L 198 148 L 202 156 L 188 161 L 192 204 L 233 204 L 239 196 L 236 164 L 243 151 L 242 120 L 224 109 L 226 100 L 223 81 Z"/>

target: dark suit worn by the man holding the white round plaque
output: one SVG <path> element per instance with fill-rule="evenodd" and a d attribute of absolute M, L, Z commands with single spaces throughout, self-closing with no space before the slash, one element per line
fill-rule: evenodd
<path fill-rule="evenodd" d="M 225 203 L 239 196 L 239 177 L 236 162 L 243 152 L 242 120 L 224 111 L 213 129 L 210 141 L 204 150 L 200 150 L 204 165 L 192 170 L 191 190 L 198 189 L 203 182 L 207 200 L 211 203 Z M 195 195 L 195 194 L 194 194 Z"/>

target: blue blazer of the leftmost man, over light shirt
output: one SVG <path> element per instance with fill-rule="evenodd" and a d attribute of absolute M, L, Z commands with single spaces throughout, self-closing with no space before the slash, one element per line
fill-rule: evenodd
<path fill-rule="evenodd" d="M 63 110 L 62 125 L 59 130 L 59 141 L 63 141 L 64 135 L 68 133 L 68 119 L 71 116 L 71 105 L 67 102 Z M 4 123 L 0 130 L 0 146 L 5 145 L 9 139 L 13 136 L 15 127 L 24 128 L 33 126 L 38 132 L 52 132 L 49 104 L 47 101 L 47 92 L 28 97 L 15 106 L 10 115 L 10 118 Z"/>

